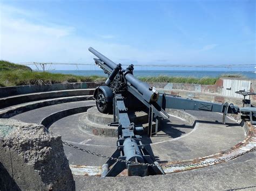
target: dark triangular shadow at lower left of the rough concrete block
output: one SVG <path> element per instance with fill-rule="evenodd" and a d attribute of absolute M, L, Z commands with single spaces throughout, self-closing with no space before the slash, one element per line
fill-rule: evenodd
<path fill-rule="evenodd" d="M 2 162 L 0 162 L 0 190 L 21 190 Z"/>

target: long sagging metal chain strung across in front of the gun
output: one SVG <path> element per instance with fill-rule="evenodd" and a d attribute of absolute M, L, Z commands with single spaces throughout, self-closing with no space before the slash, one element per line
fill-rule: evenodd
<path fill-rule="evenodd" d="M 105 158 L 105 159 L 111 159 L 111 160 L 114 160 L 114 161 L 119 161 L 119 162 L 126 162 L 127 164 L 135 164 L 135 165 L 143 165 L 143 166 L 157 166 L 155 164 L 149 164 L 149 163 L 142 163 L 142 162 L 134 162 L 134 161 L 129 161 L 129 160 L 123 160 L 123 159 L 118 159 L 118 158 L 113 158 L 113 157 L 109 157 L 109 156 L 106 156 L 106 155 L 103 155 L 103 154 L 99 154 L 99 153 L 96 153 L 96 152 L 92 152 L 92 151 L 89 151 L 89 150 L 85 150 L 84 148 L 79 148 L 78 146 L 75 146 L 75 145 L 72 145 L 68 142 L 62 142 L 64 145 L 67 145 L 67 146 L 70 146 L 72 148 L 75 148 L 77 150 L 80 150 L 80 151 L 83 151 L 83 152 L 86 152 L 86 153 L 89 153 L 89 154 L 92 154 L 92 155 L 96 155 L 98 157 L 102 157 L 102 158 Z M 248 151 L 245 151 L 245 152 L 242 152 L 240 154 L 236 154 L 236 155 L 233 155 L 231 157 L 226 157 L 226 158 L 222 158 L 222 159 L 217 159 L 217 160 L 212 160 L 212 161 L 206 161 L 206 162 L 200 162 L 200 163 L 188 163 L 188 164 L 172 164 L 172 165 L 160 165 L 161 167 L 189 167 L 189 166 L 199 166 L 199 165 L 208 165 L 208 164 L 215 164 L 215 163 L 218 163 L 218 162 L 224 162 L 224 161 L 228 161 L 228 160 L 231 160 L 231 159 L 234 159 L 234 158 L 237 158 L 237 157 L 241 157 L 241 155 L 244 155 L 246 153 L 249 153 L 249 152 L 252 152 L 256 150 L 255 147 L 253 147 L 251 150 L 248 150 Z"/>

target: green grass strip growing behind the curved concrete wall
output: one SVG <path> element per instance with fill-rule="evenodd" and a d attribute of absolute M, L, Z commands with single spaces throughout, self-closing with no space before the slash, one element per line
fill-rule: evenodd
<path fill-rule="evenodd" d="M 237 74 L 224 74 L 220 77 L 243 77 Z M 170 83 L 194 83 L 213 85 L 219 77 L 138 77 L 144 82 L 170 82 Z M 93 82 L 105 81 L 102 76 L 77 76 L 70 74 L 53 74 L 49 72 L 33 72 L 30 67 L 16 65 L 8 61 L 0 60 L 0 87 L 23 86 L 23 85 L 43 85 L 51 83 L 70 83 L 70 82 Z"/>

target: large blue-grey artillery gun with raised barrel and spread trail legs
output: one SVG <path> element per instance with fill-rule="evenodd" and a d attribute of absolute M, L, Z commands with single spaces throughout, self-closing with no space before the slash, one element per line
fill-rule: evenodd
<path fill-rule="evenodd" d="M 223 113 L 224 124 L 227 114 L 240 113 L 250 117 L 252 124 L 255 123 L 253 118 L 256 116 L 256 108 L 239 108 L 232 103 L 221 104 L 160 94 L 156 88 L 133 76 L 133 65 L 123 69 L 120 63 L 117 65 L 92 47 L 89 51 L 98 57 L 94 59 L 96 65 L 108 75 L 106 86 L 97 87 L 93 98 L 100 112 L 113 112 L 113 122 L 110 125 L 117 127 L 118 134 L 117 150 L 102 166 L 102 176 L 117 176 L 126 168 L 129 176 L 165 174 L 143 144 L 143 127 L 130 122 L 127 114 L 129 109 L 148 110 L 149 136 L 153 133 L 157 135 L 161 120 L 169 118 L 165 109 L 220 112 Z M 156 122 L 155 132 L 152 132 L 153 122 Z"/>

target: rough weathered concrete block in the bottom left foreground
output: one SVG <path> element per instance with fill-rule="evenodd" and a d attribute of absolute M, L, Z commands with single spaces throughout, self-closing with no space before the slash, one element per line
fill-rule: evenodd
<path fill-rule="evenodd" d="M 59 135 L 43 125 L 0 119 L 0 137 L 0 190 L 75 190 Z"/>

